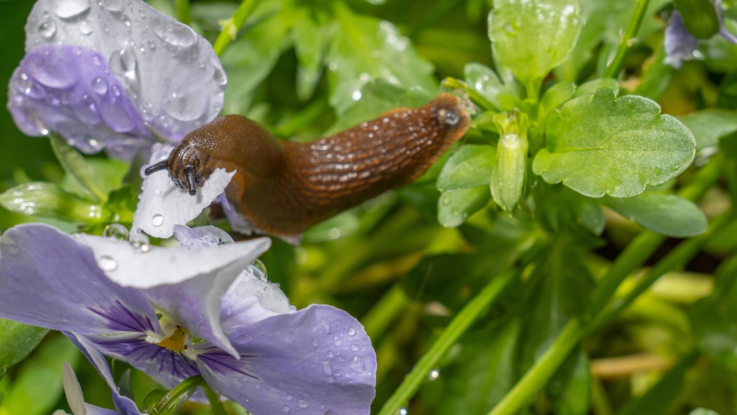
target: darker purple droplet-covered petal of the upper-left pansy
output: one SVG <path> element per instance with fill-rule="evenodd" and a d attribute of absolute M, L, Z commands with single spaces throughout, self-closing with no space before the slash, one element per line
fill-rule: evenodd
<path fill-rule="evenodd" d="M 110 67 L 91 49 L 33 49 L 13 72 L 8 91 L 10 114 L 29 136 L 56 131 L 85 153 L 107 146 L 132 154 L 152 141 Z"/>

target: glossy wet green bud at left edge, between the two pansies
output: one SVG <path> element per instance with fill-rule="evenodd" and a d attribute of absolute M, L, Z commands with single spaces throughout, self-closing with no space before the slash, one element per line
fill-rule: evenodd
<path fill-rule="evenodd" d="M 0 206 L 24 215 L 56 217 L 85 223 L 105 220 L 102 206 L 91 204 L 56 184 L 32 181 L 0 193 Z"/>

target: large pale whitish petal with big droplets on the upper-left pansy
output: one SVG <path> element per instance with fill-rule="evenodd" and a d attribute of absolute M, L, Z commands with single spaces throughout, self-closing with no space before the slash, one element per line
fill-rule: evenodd
<path fill-rule="evenodd" d="M 226 74 L 210 43 L 143 1 L 36 1 L 26 52 L 50 44 L 99 52 L 144 122 L 172 142 L 223 108 Z"/>

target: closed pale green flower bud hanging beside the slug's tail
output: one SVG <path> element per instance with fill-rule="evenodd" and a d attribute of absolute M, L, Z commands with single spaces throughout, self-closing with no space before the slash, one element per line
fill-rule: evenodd
<path fill-rule="evenodd" d="M 497 114 L 499 131 L 497 159 L 492 171 L 492 197 L 502 209 L 511 212 L 520 204 L 527 172 L 527 116 L 519 111 Z"/>

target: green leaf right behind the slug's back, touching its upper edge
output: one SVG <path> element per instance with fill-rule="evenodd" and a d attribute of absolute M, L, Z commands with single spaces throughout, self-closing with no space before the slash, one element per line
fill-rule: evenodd
<path fill-rule="evenodd" d="M 361 99 L 355 105 L 346 108 L 342 114 L 338 114 L 338 122 L 335 122 L 326 134 L 336 133 L 367 119 L 376 118 L 393 108 L 421 107 L 432 99 L 433 97 L 421 88 L 407 89 L 383 79 L 371 80 L 363 86 Z"/>

